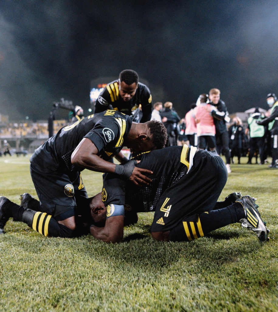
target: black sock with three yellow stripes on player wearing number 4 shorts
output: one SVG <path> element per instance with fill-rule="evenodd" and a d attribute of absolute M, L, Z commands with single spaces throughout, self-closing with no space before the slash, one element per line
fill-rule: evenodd
<path fill-rule="evenodd" d="M 192 241 L 220 227 L 239 222 L 243 217 L 243 207 L 236 202 L 225 208 L 185 217 L 170 231 L 169 238 L 170 241 Z"/>

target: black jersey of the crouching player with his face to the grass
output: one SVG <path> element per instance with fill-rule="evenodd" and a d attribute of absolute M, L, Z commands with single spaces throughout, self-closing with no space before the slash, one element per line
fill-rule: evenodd
<path fill-rule="evenodd" d="M 152 183 L 142 188 L 115 174 L 104 174 L 102 200 L 105 206 L 126 204 L 127 210 L 132 207 L 136 212 L 155 211 L 161 194 L 187 173 L 189 156 L 190 148 L 187 145 L 171 146 L 139 155 L 135 158 L 141 160 L 137 167 L 153 172 L 150 175 Z"/>

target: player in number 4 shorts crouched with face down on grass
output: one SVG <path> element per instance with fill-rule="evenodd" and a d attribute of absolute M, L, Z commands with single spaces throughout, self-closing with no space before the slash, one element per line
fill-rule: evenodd
<path fill-rule="evenodd" d="M 109 173 L 104 175 L 102 193 L 87 200 L 90 209 L 83 213 L 90 211 L 94 224 L 90 232 L 97 239 L 120 242 L 124 225 L 136 223 L 137 212 L 149 211 L 155 211 L 151 226 L 155 240 L 191 241 L 236 222 L 253 230 L 260 241 L 268 239 L 254 198 L 233 193 L 216 202 L 227 180 L 225 164 L 216 154 L 184 145 L 144 153 L 138 159 L 137 167 L 154 168 L 148 186 L 138 188 Z M 28 207 L 35 204 L 35 199 L 29 200 Z M 14 217 L 8 208 L 2 211 Z"/>

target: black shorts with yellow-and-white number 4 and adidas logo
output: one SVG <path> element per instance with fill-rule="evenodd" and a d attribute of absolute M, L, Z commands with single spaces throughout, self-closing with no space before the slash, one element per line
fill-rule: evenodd
<path fill-rule="evenodd" d="M 225 163 L 216 153 L 198 151 L 193 166 L 161 195 L 155 209 L 151 232 L 176 227 L 184 217 L 211 211 L 227 181 Z"/>

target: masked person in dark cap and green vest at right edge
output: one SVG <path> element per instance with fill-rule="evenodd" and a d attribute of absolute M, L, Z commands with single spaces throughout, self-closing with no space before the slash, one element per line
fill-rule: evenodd
<path fill-rule="evenodd" d="M 272 151 L 272 163 L 269 168 L 278 169 L 278 101 L 274 93 L 269 93 L 266 97 L 267 105 L 270 109 L 270 116 L 257 121 L 257 124 L 266 126 L 271 134 L 271 151 Z"/>

